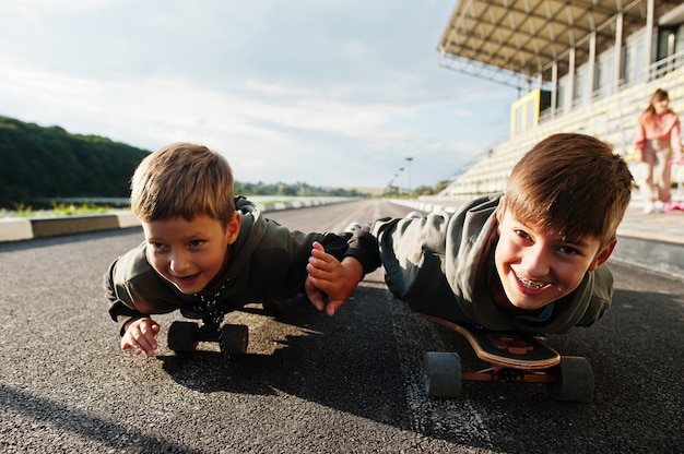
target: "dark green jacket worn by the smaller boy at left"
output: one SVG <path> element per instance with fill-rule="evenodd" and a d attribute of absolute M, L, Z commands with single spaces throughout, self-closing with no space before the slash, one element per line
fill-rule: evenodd
<path fill-rule="evenodd" d="M 303 289 L 314 241 L 338 259 L 356 256 L 345 238 L 288 230 L 264 218 L 253 203 L 241 198 L 236 203 L 241 225 L 237 240 L 229 247 L 231 263 L 219 283 L 201 292 L 207 300 L 215 299 L 219 307 L 229 309 L 295 296 Z M 105 274 L 109 314 L 120 327 L 131 319 L 172 312 L 200 301 L 200 294 L 185 295 L 157 274 L 148 262 L 145 247 L 143 242 L 116 259 Z M 363 258 L 357 259 L 366 268 Z"/>

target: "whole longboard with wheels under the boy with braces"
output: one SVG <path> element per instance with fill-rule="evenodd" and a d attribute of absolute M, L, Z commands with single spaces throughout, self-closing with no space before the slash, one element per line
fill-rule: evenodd
<path fill-rule="evenodd" d="M 423 318 L 461 334 L 477 358 L 488 365 L 482 370 L 461 370 L 456 353 L 425 354 L 425 391 L 431 397 L 458 397 L 462 381 L 545 383 L 556 401 L 587 402 L 593 394 L 593 371 L 583 357 L 561 356 L 543 338 L 524 333 L 492 332 L 433 315 Z"/>

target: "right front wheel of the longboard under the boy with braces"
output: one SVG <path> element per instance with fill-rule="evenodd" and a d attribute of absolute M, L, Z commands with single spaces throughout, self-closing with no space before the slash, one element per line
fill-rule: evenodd
<path fill-rule="evenodd" d="M 556 401 L 588 402 L 593 394 L 593 370 L 586 358 L 564 356 L 554 368 L 557 382 L 550 385 Z"/>

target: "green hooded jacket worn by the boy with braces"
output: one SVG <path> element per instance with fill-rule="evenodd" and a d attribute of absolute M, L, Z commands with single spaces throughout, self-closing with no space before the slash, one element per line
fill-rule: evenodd
<path fill-rule="evenodd" d="M 494 303 L 487 282 L 496 273 L 499 199 L 481 198 L 452 214 L 377 220 L 373 234 L 390 290 L 415 312 L 495 331 L 552 334 L 595 323 L 613 296 L 613 275 L 605 265 L 587 272 L 577 289 L 553 302 L 546 321 L 516 318 Z"/>

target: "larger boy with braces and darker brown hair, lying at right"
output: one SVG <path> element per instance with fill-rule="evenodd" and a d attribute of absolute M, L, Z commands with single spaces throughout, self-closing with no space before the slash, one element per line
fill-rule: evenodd
<path fill-rule="evenodd" d="M 552 135 L 515 166 L 504 195 L 452 214 L 376 222 L 387 284 L 415 312 L 487 330 L 589 326 L 611 303 L 604 263 L 632 183 L 608 144 Z"/>

